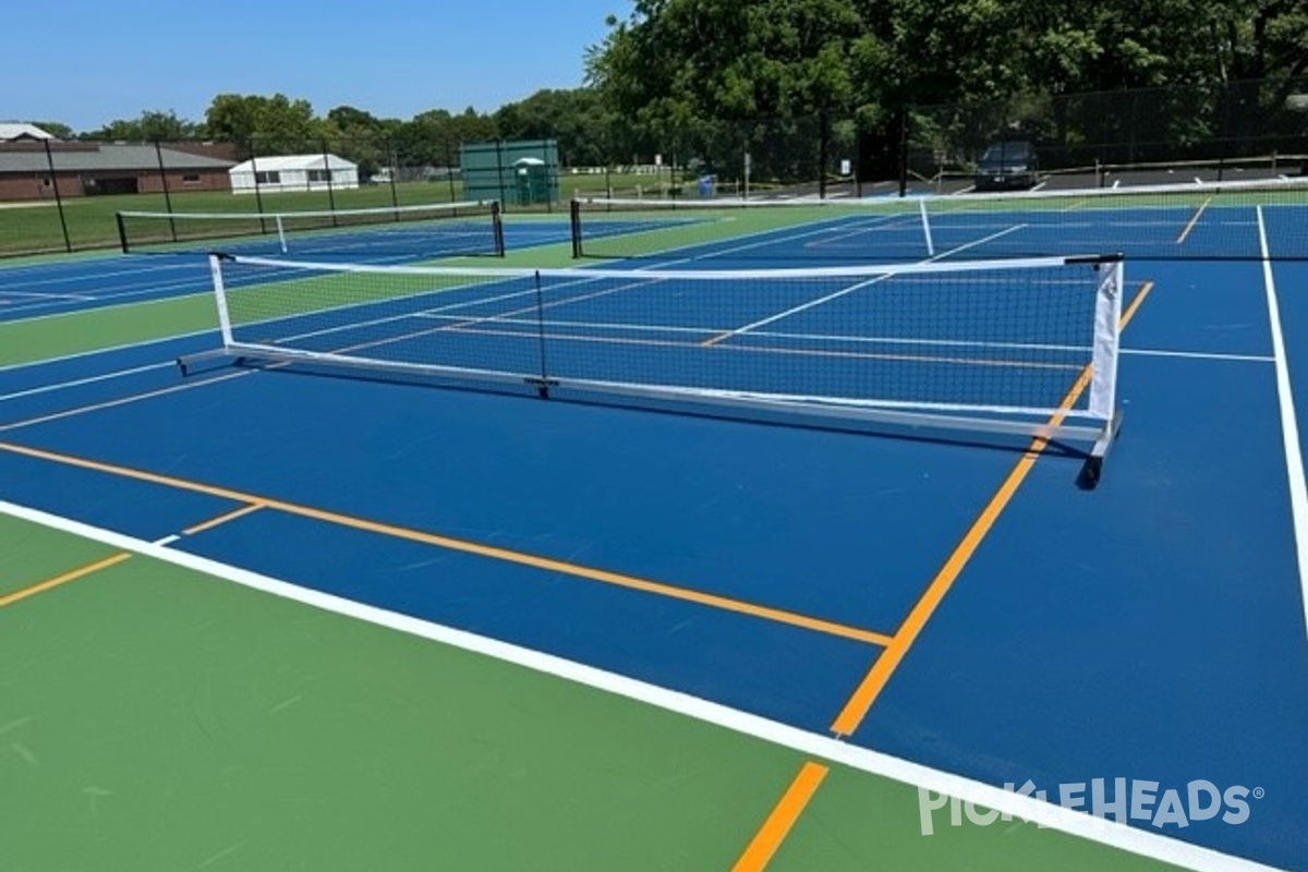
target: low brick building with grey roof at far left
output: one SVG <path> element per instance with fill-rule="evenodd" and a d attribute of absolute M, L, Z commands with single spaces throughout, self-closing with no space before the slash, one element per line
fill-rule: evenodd
<path fill-rule="evenodd" d="M 226 191 L 232 165 L 167 146 L 65 143 L 29 135 L 0 143 L 0 200 L 54 197 L 56 183 L 63 197 L 160 193 L 165 184 L 170 192 Z"/>

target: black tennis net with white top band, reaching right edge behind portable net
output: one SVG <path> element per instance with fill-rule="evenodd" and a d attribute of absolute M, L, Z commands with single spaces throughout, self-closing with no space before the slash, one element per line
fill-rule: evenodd
<path fill-rule="evenodd" d="M 871 199 L 578 199 L 577 258 L 1308 259 L 1308 178 Z"/>

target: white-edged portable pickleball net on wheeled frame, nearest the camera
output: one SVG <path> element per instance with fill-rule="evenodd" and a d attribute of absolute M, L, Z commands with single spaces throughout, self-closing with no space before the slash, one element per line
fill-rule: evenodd
<path fill-rule="evenodd" d="M 246 361 L 1103 450 L 1116 420 L 1116 258 L 632 272 L 215 255 L 212 272 L 220 353 Z"/>

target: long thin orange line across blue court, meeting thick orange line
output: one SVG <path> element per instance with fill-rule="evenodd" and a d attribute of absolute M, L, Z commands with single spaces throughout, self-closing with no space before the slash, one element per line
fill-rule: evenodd
<path fill-rule="evenodd" d="M 778 624 L 786 624 L 790 626 L 812 630 L 815 633 L 824 633 L 828 635 L 852 639 L 855 642 L 865 642 L 867 645 L 886 646 L 891 641 L 891 637 L 883 633 L 874 633 L 871 630 L 863 630 L 844 624 L 836 624 L 835 621 L 825 621 L 821 618 L 810 617 L 807 614 L 799 614 L 797 612 L 787 612 L 785 609 L 770 608 L 766 605 L 756 605 L 753 603 L 747 603 L 744 600 L 735 600 L 727 596 L 718 596 L 715 594 L 705 594 L 702 591 L 696 591 L 685 587 L 676 587 L 674 584 L 666 584 L 662 582 L 651 582 L 647 579 L 636 578 L 633 575 L 623 575 L 621 573 L 612 573 L 608 570 L 595 569 L 591 566 L 569 563 L 551 557 L 540 557 L 538 554 L 527 554 L 525 552 L 515 552 L 508 548 L 496 548 L 493 545 L 481 545 L 479 543 L 471 543 L 462 539 L 453 539 L 450 536 L 442 536 L 439 533 L 428 533 L 420 529 L 411 529 L 408 527 L 399 527 L 395 524 L 368 520 L 364 518 L 354 518 L 353 515 L 344 515 L 326 509 L 314 509 L 313 506 L 302 506 L 300 503 L 285 502 L 281 499 L 268 499 L 266 497 L 243 493 L 241 490 L 233 490 L 230 488 L 220 488 L 216 485 L 207 485 L 198 481 L 187 481 L 184 478 L 175 478 L 173 476 L 165 476 L 157 472 L 146 472 L 144 469 L 133 469 L 131 467 L 119 467 L 111 463 L 102 463 L 99 460 L 90 460 L 86 458 L 76 458 L 67 454 L 59 454 L 56 451 L 47 451 L 44 448 L 33 448 L 29 446 L 13 444 L 8 442 L 0 442 L 0 451 L 8 451 L 10 454 L 35 458 L 38 460 L 48 460 L 51 463 L 59 463 L 69 467 L 78 467 L 81 469 L 103 472 L 123 478 L 148 481 L 150 484 L 164 485 L 167 488 L 177 488 L 179 490 L 203 493 L 211 497 L 230 499 L 232 502 L 259 503 L 266 509 L 281 511 L 288 515 L 310 518 L 313 520 L 322 520 L 330 524 L 336 524 L 339 527 L 362 529 L 365 532 L 381 533 L 383 536 L 403 539 L 407 541 L 422 543 L 425 545 L 436 545 L 437 548 L 445 548 L 447 550 L 460 552 L 464 554 L 476 554 L 479 557 L 488 557 L 490 560 L 498 560 L 506 563 L 517 563 L 519 566 L 530 566 L 532 569 L 540 569 L 551 573 L 561 573 L 564 575 L 583 578 L 591 582 L 600 582 L 603 584 L 611 584 L 613 587 L 624 587 L 628 590 L 642 591 L 646 594 L 655 594 L 659 596 L 666 596 L 668 599 L 676 599 L 687 603 L 695 603 L 697 605 L 706 605 L 726 612 L 734 612 L 736 614 L 746 614 L 749 617 L 774 621 Z"/>

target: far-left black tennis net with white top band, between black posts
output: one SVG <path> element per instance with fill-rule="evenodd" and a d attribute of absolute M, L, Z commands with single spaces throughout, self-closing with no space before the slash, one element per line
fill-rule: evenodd
<path fill-rule="evenodd" d="M 502 255 L 493 200 L 320 212 L 119 212 L 124 252 L 238 251 L 349 261 Z"/>

